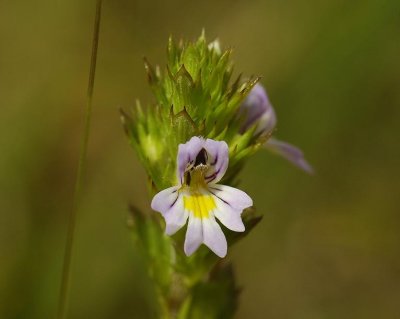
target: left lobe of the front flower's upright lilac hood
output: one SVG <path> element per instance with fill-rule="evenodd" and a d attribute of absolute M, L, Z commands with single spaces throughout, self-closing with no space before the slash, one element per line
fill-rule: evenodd
<path fill-rule="evenodd" d="M 180 185 L 183 183 L 183 177 L 185 174 L 186 167 L 189 163 L 195 161 L 197 154 L 204 147 L 204 139 L 193 136 L 185 144 L 179 144 L 178 157 L 177 157 L 177 176 Z"/>

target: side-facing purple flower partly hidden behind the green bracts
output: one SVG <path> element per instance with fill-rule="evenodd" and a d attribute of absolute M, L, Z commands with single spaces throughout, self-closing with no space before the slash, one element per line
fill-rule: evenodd
<path fill-rule="evenodd" d="M 256 84 L 240 106 L 244 114 L 241 133 L 256 125 L 255 134 L 270 134 L 276 126 L 276 114 L 267 92 L 261 84 Z M 265 147 L 276 153 L 300 169 L 312 173 L 313 168 L 304 158 L 303 152 L 296 146 L 280 141 L 274 137 L 268 139 Z"/>

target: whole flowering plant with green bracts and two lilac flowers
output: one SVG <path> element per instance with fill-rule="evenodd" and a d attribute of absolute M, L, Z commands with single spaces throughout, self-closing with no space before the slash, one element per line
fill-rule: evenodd
<path fill-rule="evenodd" d="M 261 220 L 237 185 L 243 165 L 269 148 L 311 170 L 299 149 L 271 138 L 267 94 L 259 78 L 232 78 L 231 54 L 204 35 L 170 38 L 165 68 L 145 60 L 155 103 L 122 112 L 149 177 L 149 210 L 132 207 L 130 225 L 154 282 L 156 317 L 231 318 L 239 289 L 228 247 Z"/>

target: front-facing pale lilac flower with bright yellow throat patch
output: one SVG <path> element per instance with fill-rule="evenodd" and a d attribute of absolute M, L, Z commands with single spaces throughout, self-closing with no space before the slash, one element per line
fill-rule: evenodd
<path fill-rule="evenodd" d="M 173 235 L 189 219 L 184 251 L 190 256 L 203 243 L 219 257 L 227 253 L 227 241 L 218 219 L 232 231 L 243 232 L 241 214 L 253 205 L 243 191 L 217 184 L 229 162 L 228 145 L 194 136 L 180 144 L 177 156 L 178 185 L 156 194 L 151 208 L 162 214 L 165 232 Z"/>

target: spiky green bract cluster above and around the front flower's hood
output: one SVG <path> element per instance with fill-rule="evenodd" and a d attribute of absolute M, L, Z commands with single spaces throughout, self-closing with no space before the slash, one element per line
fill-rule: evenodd
<path fill-rule="evenodd" d="M 219 43 L 169 39 L 163 71 L 145 60 L 155 104 L 145 110 L 138 102 L 122 120 L 156 190 L 176 183 L 178 145 L 192 136 L 224 140 L 229 145 L 225 183 L 232 183 L 244 160 L 262 145 L 266 136 L 254 129 L 239 133 L 238 108 L 259 78 L 232 80 L 232 50 L 221 52 Z"/>

